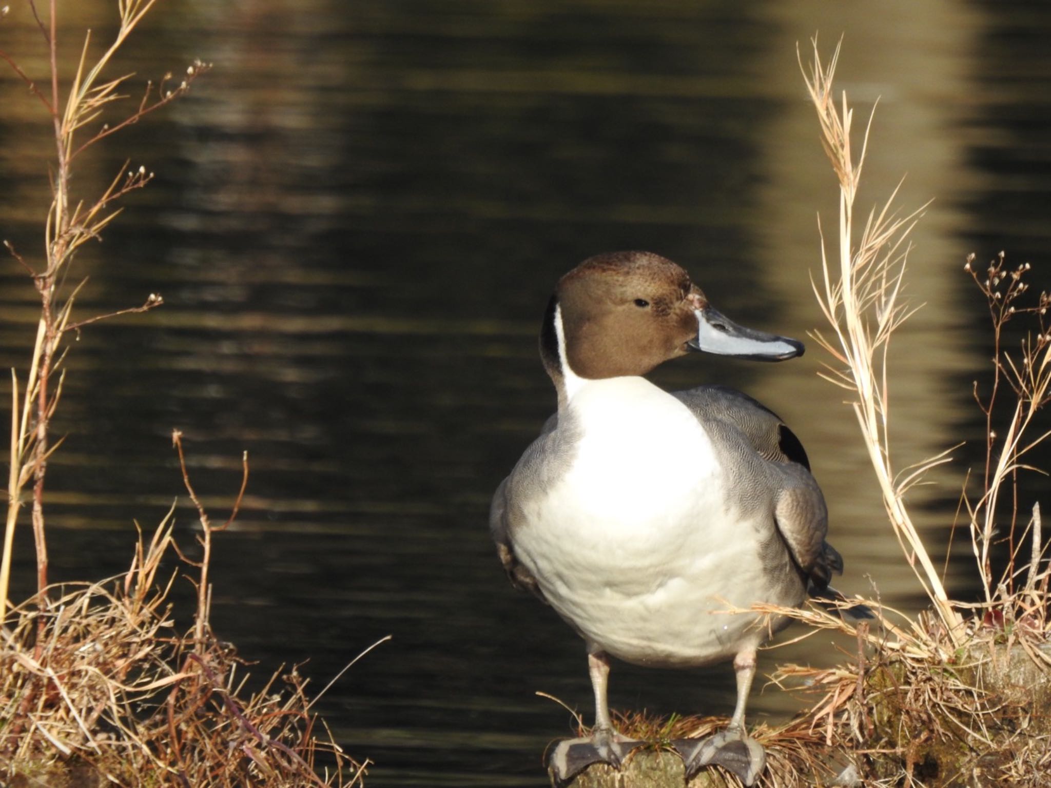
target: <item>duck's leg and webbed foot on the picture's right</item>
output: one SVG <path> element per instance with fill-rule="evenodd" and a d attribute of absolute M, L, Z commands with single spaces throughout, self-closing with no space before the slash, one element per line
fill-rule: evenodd
<path fill-rule="evenodd" d="M 759 742 L 744 730 L 744 707 L 756 676 L 756 648 L 749 647 L 734 658 L 737 673 L 737 706 L 725 730 L 682 751 L 686 763 L 686 779 L 691 780 L 703 767 L 718 764 L 737 774 L 745 785 L 755 785 L 766 768 L 766 753 Z"/>

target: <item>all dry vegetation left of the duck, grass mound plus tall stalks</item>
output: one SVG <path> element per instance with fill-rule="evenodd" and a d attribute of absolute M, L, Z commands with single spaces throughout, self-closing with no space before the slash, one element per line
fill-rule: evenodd
<path fill-rule="evenodd" d="M 358 765 L 332 741 L 311 712 L 306 681 L 293 667 L 248 691 L 245 663 L 209 625 L 208 577 L 212 525 L 201 506 L 173 434 L 187 492 L 201 522 L 200 561 L 187 559 L 171 537 L 171 516 L 148 543 L 140 531 L 130 566 L 100 582 L 49 585 L 44 518 L 47 460 L 58 444 L 48 426 L 59 405 L 65 340 L 70 332 L 101 319 L 160 306 L 150 294 L 138 307 L 75 320 L 73 308 L 83 282 L 65 285 L 70 264 L 87 241 L 118 215 L 116 202 L 146 186 L 152 173 L 127 164 L 98 193 L 74 195 L 70 175 L 79 157 L 122 128 L 185 95 L 208 66 L 195 62 L 184 76 L 147 83 L 137 107 L 109 123 L 103 119 L 123 98 L 130 75 L 103 71 L 156 0 L 117 0 L 114 41 L 91 62 L 85 36 L 80 60 L 64 97 L 60 95 L 57 0 L 47 23 L 28 1 L 47 47 L 47 87 L 38 86 L 17 59 L 0 58 L 28 85 L 54 128 L 56 163 L 53 200 L 44 224 L 45 258 L 23 257 L 5 242 L 41 298 L 32 360 L 22 380 L 12 371 L 12 415 L 7 517 L 0 554 L 0 784 L 5 786 L 350 786 L 360 783 Z M 3 8 L 7 13 L 7 7 Z M 87 130 L 92 127 L 95 130 Z M 84 139 L 81 139 L 81 136 Z M 61 442 L 61 441 L 59 441 Z M 12 555 L 19 513 L 32 488 L 32 524 L 37 593 L 21 604 L 8 600 Z M 173 507 L 172 507 L 173 511 Z M 178 555 L 173 575 L 159 578 L 162 560 Z M 178 577 L 198 590 L 191 630 L 182 634 L 168 592 Z M 315 699 L 316 700 L 316 699 Z"/>

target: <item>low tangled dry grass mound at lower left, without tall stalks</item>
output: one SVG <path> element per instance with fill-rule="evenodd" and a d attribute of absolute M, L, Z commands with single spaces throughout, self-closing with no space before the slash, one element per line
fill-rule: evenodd
<path fill-rule="evenodd" d="M 157 582 L 173 551 L 169 514 L 149 544 L 140 538 L 124 576 L 54 586 L 46 608 L 35 598 L 8 615 L 0 630 L 0 777 L 194 788 L 360 784 L 365 765 L 310 711 L 294 667 L 248 693 L 244 663 L 212 634 L 206 609 L 189 633 L 176 630 L 167 600 L 174 576 L 163 587 Z M 201 585 L 204 565 L 191 567 Z"/>

